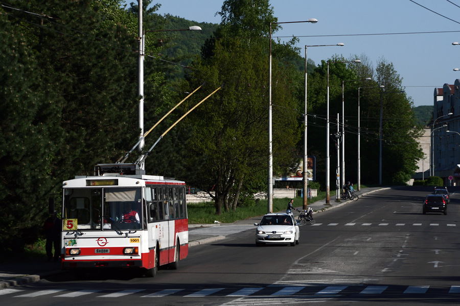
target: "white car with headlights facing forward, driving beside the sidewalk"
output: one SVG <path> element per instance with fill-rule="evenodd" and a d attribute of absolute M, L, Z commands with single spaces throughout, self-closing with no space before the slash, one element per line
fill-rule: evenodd
<path fill-rule="evenodd" d="M 256 245 L 266 243 L 289 243 L 291 246 L 298 244 L 298 223 L 291 215 L 282 213 L 269 213 L 263 216 L 256 230 Z"/>

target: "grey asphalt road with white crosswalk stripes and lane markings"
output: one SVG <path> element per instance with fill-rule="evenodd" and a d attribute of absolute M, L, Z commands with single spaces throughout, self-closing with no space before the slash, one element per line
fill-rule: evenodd
<path fill-rule="evenodd" d="M 17 286 L 2 304 L 460 304 L 460 194 L 447 215 L 422 214 L 431 189 L 396 188 L 315 215 L 300 244 L 255 246 L 255 228 L 190 248 L 155 278 L 70 273 Z M 1 294 L 2 291 L 0 291 Z M 5 291 L 3 291 L 5 292 Z"/>

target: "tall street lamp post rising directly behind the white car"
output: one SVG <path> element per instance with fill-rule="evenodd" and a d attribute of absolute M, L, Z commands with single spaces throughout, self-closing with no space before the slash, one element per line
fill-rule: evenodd
<path fill-rule="evenodd" d="M 269 29 L 269 48 L 268 48 L 268 190 L 267 190 L 267 210 L 269 213 L 273 212 L 273 142 L 272 142 L 272 104 L 271 104 L 271 25 L 272 24 L 282 24 L 282 23 L 301 23 L 301 22 L 311 22 L 316 23 L 318 19 L 309 18 L 306 21 L 286 21 L 286 22 L 270 22 Z M 307 82 L 307 81 L 305 81 Z M 306 163 L 306 161 L 304 161 Z M 304 174 L 305 176 L 305 174 Z"/>

